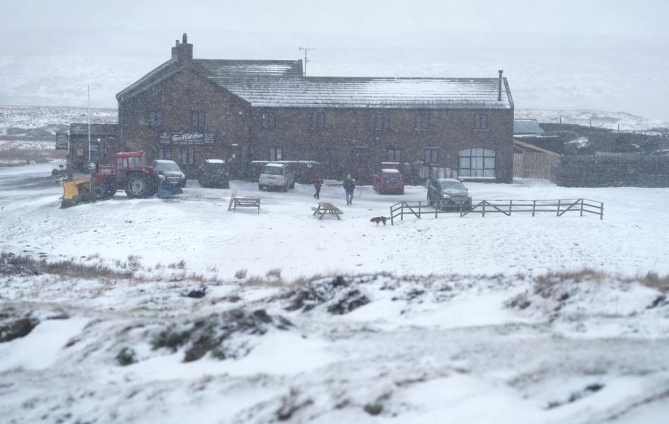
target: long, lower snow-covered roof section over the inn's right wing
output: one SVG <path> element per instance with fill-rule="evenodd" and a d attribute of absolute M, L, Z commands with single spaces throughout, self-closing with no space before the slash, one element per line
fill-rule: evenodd
<path fill-rule="evenodd" d="M 205 76 L 257 107 L 509 109 L 497 78 L 224 77 Z"/>

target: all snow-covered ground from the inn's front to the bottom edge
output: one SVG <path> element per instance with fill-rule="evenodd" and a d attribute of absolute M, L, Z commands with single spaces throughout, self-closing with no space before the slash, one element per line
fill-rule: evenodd
<path fill-rule="evenodd" d="M 309 186 L 236 181 L 260 214 L 197 181 L 59 209 L 50 170 L 0 169 L 3 421 L 666 422 L 669 287 L 647 273 L 669 273 L 667 189 L 469 183 L 474 199 L 587 197 L 604 219 L 377 227 L 425 189 L 344 206 L 326 186 L 340 221 L 311 215 Z"/>

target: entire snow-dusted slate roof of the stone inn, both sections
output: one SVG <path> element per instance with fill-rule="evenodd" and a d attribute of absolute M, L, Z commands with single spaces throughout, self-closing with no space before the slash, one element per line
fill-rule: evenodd
<path fill-rule="evenodd" d="M 186 65 L 170 59 L 116 96 L 133 96 L 183 69 L 255 107 L 513 108 L 506 78 L 498 101 L 497 78 L 303 77 L 301 61 L 193 59 Z"/>

